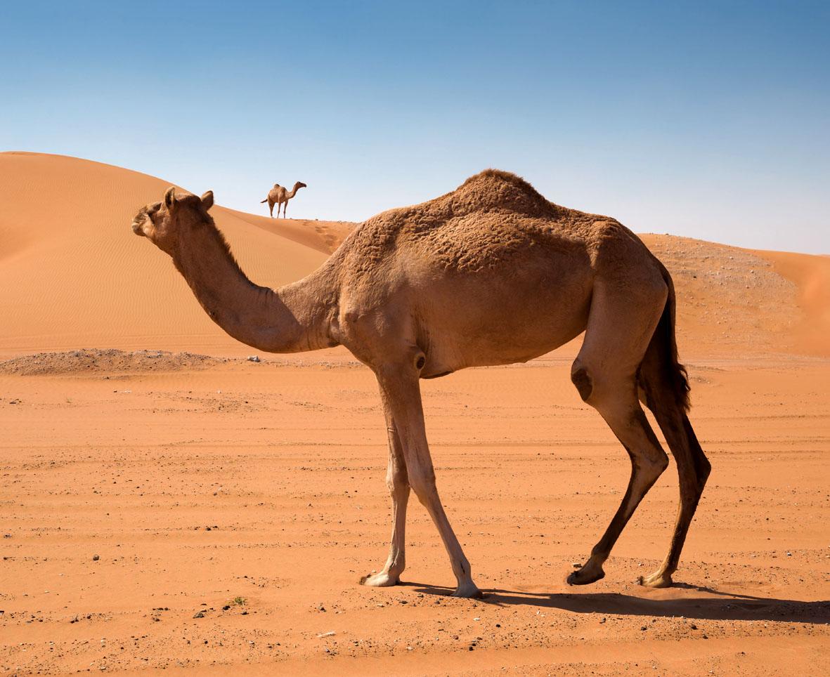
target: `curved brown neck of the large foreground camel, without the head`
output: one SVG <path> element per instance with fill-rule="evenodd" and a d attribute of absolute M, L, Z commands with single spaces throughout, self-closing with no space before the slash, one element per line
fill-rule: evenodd
<path fill-rule="evenodd" d="M 199 223 L 173 263 L 199 304 L 227 334 L 268 353 L 300 353 L 336 345 L 334 270 L 324 265 L 278 290 L 248 280 L 212 223 Z"/>

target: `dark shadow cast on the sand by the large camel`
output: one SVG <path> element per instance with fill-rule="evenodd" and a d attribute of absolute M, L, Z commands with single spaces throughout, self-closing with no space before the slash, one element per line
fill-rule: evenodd
<path fill-rule="evenodd" d="M 453 588 L 416 582 L 401 582 L 425 595 L 446 597 Z M 598 613 L 618 616 L 685 616 L 712 621 L 777 621 L 790 623 L 830 622 L 830 601 L 799 602 L 675 583 L 671 589 L 702 593 L 673 599 L 649 599 L 619 592 L 522 592 L 491 588 L 483 590 L 482 603 L 493 606 L 527 604 L 561 609 L 572 613 Z M 709 597 L 715 596 L 715 597 Z"/>

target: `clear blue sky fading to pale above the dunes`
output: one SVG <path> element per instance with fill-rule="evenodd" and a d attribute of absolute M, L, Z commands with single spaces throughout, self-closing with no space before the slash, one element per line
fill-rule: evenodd
<path fill-rule="evenodd" d="M 830 253 L 830 2 L 2 2 L 0 149 L 349 221 L 496 167 Z"/>

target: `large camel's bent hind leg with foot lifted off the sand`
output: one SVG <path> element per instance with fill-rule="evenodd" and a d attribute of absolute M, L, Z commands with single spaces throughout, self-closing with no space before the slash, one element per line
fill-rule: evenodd
<path fill-rule="evenodd" d="M 583 585 L 605 576 L 603 563 L 614 543 L 657 478 L 668 465 L 637 400 L 637 368 L 642 362 L 666 300 L 662 280 L 615 288 L 598 280 L 594 289 L 583 346 L 574 360 L 571 379 L 584 402 L 608 423 L 631 459 L 631 476 L 623 501 L 591 557 L 568 582 Z"/>

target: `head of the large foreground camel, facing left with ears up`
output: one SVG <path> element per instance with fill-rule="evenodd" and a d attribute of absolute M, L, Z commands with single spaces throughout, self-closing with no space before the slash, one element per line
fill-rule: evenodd
<path fill-rule="evenodd" d="M 212 191 L 207 191 L 202 197 L 189 193 L 177 195 L 176 189 L 171 186 L 164 192 L 161 202 L 141 207 L 133 218 L 133 232 L 173 256 L 183 233 L 193 224 L 203 222 L 212 206 Z"/>

